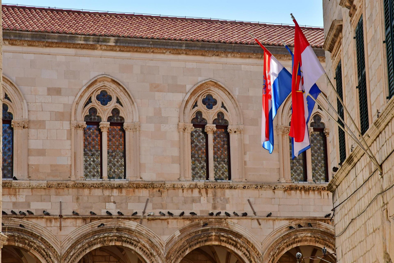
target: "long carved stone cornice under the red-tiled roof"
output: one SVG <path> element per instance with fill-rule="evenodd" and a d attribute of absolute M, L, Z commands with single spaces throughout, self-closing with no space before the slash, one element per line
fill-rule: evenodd
<path fill-rule="evenodd" d="M 203 55 L 208 57 L 263 58 L 263 50 L 255 45 L 234 45 L 205 42 L 126 39 L 124 37 L 83 36 L 53 33 L 3 31 L 4 45 L 59 47 L 106 51 L 171 53 Z M 267 46 L 278 60 L 291 60 L 284 47 Z M 320 61 L 324 62 L 324 50 L 314 48 Z"/>

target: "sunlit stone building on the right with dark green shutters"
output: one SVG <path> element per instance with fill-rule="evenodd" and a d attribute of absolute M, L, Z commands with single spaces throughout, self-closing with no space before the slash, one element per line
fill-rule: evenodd
<path fill-rule="evenodd" d="M 332 166 L 340 164 L 328 185 L 338 262 L 394 259 L 392 8 L 385 0 L 323 1 L 326 71 L 383 170 L 348 136 L 331 137 Z"/>

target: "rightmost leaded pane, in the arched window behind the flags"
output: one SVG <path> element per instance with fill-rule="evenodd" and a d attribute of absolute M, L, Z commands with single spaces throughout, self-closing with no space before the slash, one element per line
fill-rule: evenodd
<path fill-rule="evenodd" d="M 314 130 L 310 135 L 310 151 L 312 156 L 312 179 L 314 182 L 326 182 L 326 136 L 323 130 Z"/>

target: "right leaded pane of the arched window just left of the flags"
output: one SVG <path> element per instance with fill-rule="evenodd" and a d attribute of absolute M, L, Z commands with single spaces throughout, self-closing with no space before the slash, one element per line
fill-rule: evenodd
<path fill-rule="evenodd" d="M 216 127 L 213 133 L 213 171 L 215 180 L 230 180 L 229 134 L 226 128 Z"/>

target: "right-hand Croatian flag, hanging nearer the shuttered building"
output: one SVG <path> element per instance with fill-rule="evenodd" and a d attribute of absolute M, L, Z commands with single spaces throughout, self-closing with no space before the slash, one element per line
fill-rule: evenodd
<path fill-rule="evenodd" d="M 316 85 L 318 79 L 325 73 L 312 47 L 295 19 L 293 74 L 291 83 L 292 115 L 290 137 L 293 138 L 293 158 L 310 148 L 308 121 L 311 111 L 309 105 L 313 101 L 307 96 L 317 98 L 320 89 Z M 297 73 L 296 73 L 297 72 Z M 316 97 L 315 97 L 316 96 Z M 309 105 L 309 106 L 308 106 Z M 314 103 L 313 103 L 314 106 Z"/>

